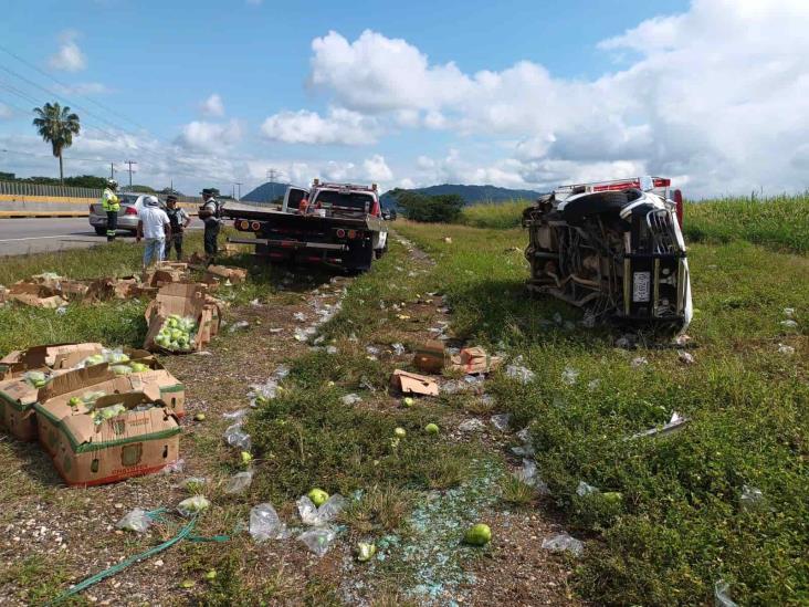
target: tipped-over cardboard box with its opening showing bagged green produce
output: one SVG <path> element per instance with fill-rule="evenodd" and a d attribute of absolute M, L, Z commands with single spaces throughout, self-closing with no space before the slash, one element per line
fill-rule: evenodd
<path fill-rule="evenodd" d="M 197 321 L 197 335 L 189 352 L 202 349 L 219 331 L 219 311 L 206 301 L 206 286 L 199 283 L 171 283 L 162 286 L 146 308 L 146 339 L 144 348 L 149 352 L 165 352 L 155 343 L 155 337 L 171 314 L 191 316 Z"/>

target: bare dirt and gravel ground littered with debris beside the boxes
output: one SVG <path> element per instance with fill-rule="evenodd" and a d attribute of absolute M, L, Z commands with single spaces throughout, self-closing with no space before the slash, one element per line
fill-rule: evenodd
<path fill-rule="evenodd" d="M 407 291 L 406 276 L 428 273 L 432 262 L 407 241 L 400 241 L 399 248 L 396 254 L 406 255 L 397 261 L 402 266 L 401 289 Z M 515 469 L 518 462 L 502 460 L 513 437 L 490 422 L 491 415 L 496 411 L 483 397 L 481 386 L 453 397 L 451 406 L 442 409 L 441 423 L 450 429 L 448 440 L 481 444 L 482 453 L 495 461 L 496 470 L 476 475 L 458 490 L 429 492 L 419 499 L 411 521 L 417 531 L 411 537 L 401 538 L 410 542 L 408 550 L 424 563 L 421 568 L 408 569 L 417 577 L 414 595 L 401 592 L 412 579 L 403 580 L 402 587 L 397 586 L 391 567 L 357 565 L 349 542 L 338 542 L 326 556 L 318 558 L 292 540 L 259 545 L 246 533 L 233 534 L 234 528 L 246 522 L 250 507 L 265 498 L 254 488 L 237 496 L 224 493 L 229 475 L 239 470 L 239 454 L 222 440 L 225 428 L 232 423 L 223 416 L 248 407 L 251 384 L 263 384 L 280 365 L 313 347 L 301 341 L 302 331 L 335 311 L 353 280 L 334 278 L 317 282 L 283 276 L 269 286 L 267 294 L 258 305 L 234 306 L 225 312 L 222 337 L 212 342 L 209 355 L 164 360 L 186 385 L 188 395 L 188 412 L 182 420 L 185 468 L 181 472 L 101 488 L 67 489 L 61 485 L 38 446 L 23 446 L 9 439 L 0 441 L 0 465 L 4 469 L 0 481 L 0 566 L 6 572 L 0 574 L 0 597 L 3 603 L 24 605 L 53 597 L 57 589 L 63 590 L 171 537 L 180 524 L 176 517 L 166 525 L 155 525 L 144 536 L 116 531 L 114 524 L 134 507 L 174 506 L 188 496 L 186 489 L 180 486 L 181 481 L 202 477 L 208 480 L 204 493 L 214 506 L 211 514 L 201 520 L 198 532 L 202 535 L 231 534 L 231 540 L 227 544 L 179 544 L 91 587 L 82 595 L 82 601 L 186 604 L 208 589 L 201 575 L 216 568 L 220 578 L 232 576 L 233 585 L 238 579 L 245 590 L 261 589 L 261 595 L 244 598 L 248 605 L 258 601 L 259 596 L 270 604 L 393 605 L 406 601 L 406 594 L 408 600 L 416 596 L 416 604 L 574 604 L 566 582 L 569 572 L 559 559 L 539 547 L 542 538 L 554 533 L 553 525 L 534 505 L 509 509 L 498 499 L 498 475 L 505 468 Z M 424 294 L 397 307 L 398 314 L 410 318 L 406 331 L 386 328 L 384 334 L 375 335 L 374 343 L 348 339 L 339 344 L 340 348 L 371 346 L 376 349 L 369 350 L 369 356 L 378 357 L 391 367 L 403 366 L 412 354 L 397 353 L 391 343 L 421 343 L 435 336 L 431 328 L 450 322 L 440 294 Z M 246 326 L 241 326 L 243 323 Z M 374 398 L 359 406 L 385 409 L 396 400 L 387 393 L 375 393 Z M 204 414 L 204 421 L 195 421 L 195 415 L 200 412 Z M 481 421 L 480 431 L 455 429 L 470 419 Z M 464 500 L 470 507 L 477 509 L 480 519 L 494 530 L 492 546 L 480 554 L 469 548 L 463 553 L 456 550 L 455 537 L 460 532 L 451 525 L 455 522 L 454 506 Z M 536 504 L 536 500 L 533 503 Z M 441 504 L 446 504 L 445 516 Z M 282 519 L 296 517 L 292 501 L 275 505 Z M 443 533 L 444 523 L 450 525 L 443 532 L 450 534 L 451 542 L 443 548 L 439 541 L 431 546 L 437 533 Z M 391 547 L 391 559 L 399 557 Z M 401 559 L 407 564 L 406 557 Z M 445 563 L 449 565 L 441 568 L 439 563 L 441 567 Z M 445 578 L 440 578 L 442 576 Z M 195 586 L 180 588 L 183 579 L 195 580 Z M 225 587 L 230 578 L 220 582 L 220 586 Z M 212 599 L 206 595 L 206 600 Z"/>

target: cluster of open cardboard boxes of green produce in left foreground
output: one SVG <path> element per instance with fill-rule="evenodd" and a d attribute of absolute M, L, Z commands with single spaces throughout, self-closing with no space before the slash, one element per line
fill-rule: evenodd
<path fill-rule="evenodd" d="M 139 371 L 84 366 L 102 352 L 101 344 L 56 344 L 0 360 L 2 425 L 19 440 L 39 438 L 71 485 L 148 474 L 179 457 L 185 387 L 146 350 L 124 350 Z M 34 387 L 30 371 L 43 373 L 44 386 Z"/>

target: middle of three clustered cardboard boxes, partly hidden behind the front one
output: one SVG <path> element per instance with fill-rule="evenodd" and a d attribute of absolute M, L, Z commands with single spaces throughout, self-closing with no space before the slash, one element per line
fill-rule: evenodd
<path fill-rule="evenodd" d="M 106 363 L 73 369 L 55 376 L 39 391 L 32 407 L 36 412 L 36 426 L 42 447 L 54 453 L 57 442 L 57 422 L 72 407 L 71 398 L 82 397 L 90 391 L 104 391 L 108 395 L 146 393 L 172 415 L 186 414 L 186 388 L 177 378 L 162 368 L 154 357 L 138 360 L 149 365 L 149 370 L 129 375 L 115 375 Z"/>

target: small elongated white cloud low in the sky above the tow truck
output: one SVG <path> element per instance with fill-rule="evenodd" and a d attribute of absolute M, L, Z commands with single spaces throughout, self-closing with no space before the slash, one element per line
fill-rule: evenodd
<path fill-rule="evenodd" d="M 266 118 L 261 132 L 277 142 L 308 145 L 366 145 L 377 137 L 372 118 L 339 107 L 329 109 L 325 117 L 307 109 L 281 112 Z"/>

